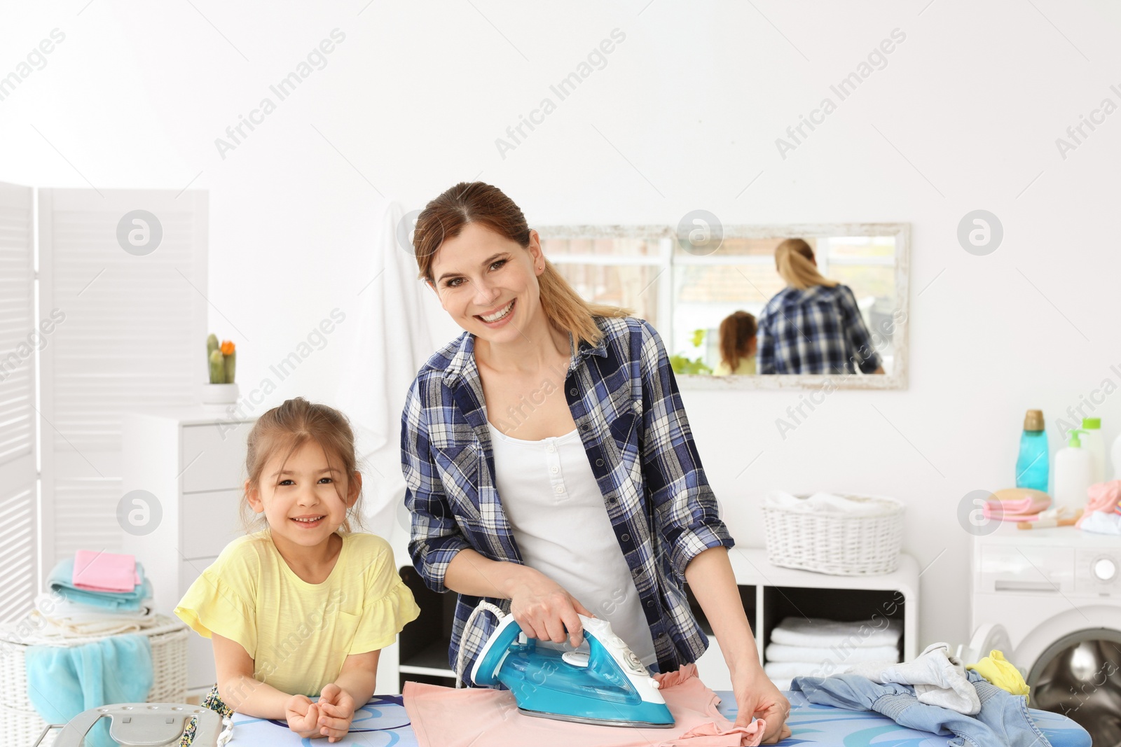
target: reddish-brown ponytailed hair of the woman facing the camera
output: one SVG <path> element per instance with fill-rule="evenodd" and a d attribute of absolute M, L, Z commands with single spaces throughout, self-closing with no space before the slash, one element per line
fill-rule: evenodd
<path fill-rule="evenodd" d="M 482 181 L 461 181 L 429 202 L 417 216 L 413 246 L 420 278 L 433 282 L 432 263 L 447 239 L 460 235 L 464 226 L 479 223 L 503 239 L 529 249 L 529 226 L 521 208 L 498 187 Z M 572 333 L 575 344 L 581 340 L 595 345 L 602 333 L 595 317 L 626 317 L 629 309 L 603 304 L 590 304 L 580 297 L 556 267 L 545 258 L 545 272 L 537 278 L 541 309 L 554 327 Z"/>

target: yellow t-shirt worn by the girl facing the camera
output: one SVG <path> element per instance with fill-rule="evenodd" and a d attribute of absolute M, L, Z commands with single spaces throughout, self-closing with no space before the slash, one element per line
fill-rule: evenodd
<path fill-rule="evenodd" d="M 183 595 L 175 614 L 204 637 L 237 641 L 253 678 L 315 697 L 350 654 L 393 643 L 420 608 L 374 534 L 341 534 L 339 559 L 322 583 L 299 578 L 268 530 L 238 538 Z"/>

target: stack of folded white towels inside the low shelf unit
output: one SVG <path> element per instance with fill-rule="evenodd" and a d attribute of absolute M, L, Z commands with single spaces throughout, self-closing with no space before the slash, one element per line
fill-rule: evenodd
<path fill-rule="evenodd" d="M 899 620 L 835 620 L 787 617 L 771 631 L 763 671 L 779 690 L 796 676 L 840 674 L 855 664 L 899 662 Z"/>

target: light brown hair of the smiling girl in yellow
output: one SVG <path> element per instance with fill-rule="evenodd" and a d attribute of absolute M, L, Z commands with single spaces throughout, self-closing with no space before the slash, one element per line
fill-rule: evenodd
<path fill-rule="evenodd" d="M 339 410 L 325 404 L 308 402 L 302 396 L 294 400 L 285 400 L 280 407 L 272 408 L 253 423 L 249 431 L 245 451 L 245 471 L 253 485 L 260 489 L 261 477 L 265 466 L 277 454 L 284 454 L 280 469 L 284 464 L 300 446 L 308 441 L 316 441 L 327 457 L 327 466 L 334 467 L 346 476 L 346 487 L 350 488 L 354 482 L 354 470 L 358 459 L 354 456 L 354 431 L 351 430 L 350 421 Z M 279 478 L 278 478 L 279 482 Z M 341 493 L 343 482 L 333 482 L 339 499 L 346 503 L 346 496 Z M 340 531 L 350 533 L 351 521 L 358 529 L 362 529 L 362 495 L 358 496 L 354 505 L 346 512 L 346 519 Z M 247 532 L 257 532 L 268 527 L 268 520 L 262 514 L 257 514 L 249 505 L 245 494 L 241 496 L 241 523 Z"/>

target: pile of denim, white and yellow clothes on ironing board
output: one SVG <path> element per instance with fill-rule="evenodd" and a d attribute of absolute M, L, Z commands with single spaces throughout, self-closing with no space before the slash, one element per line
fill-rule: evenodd
<path fill-rule="evenodd" d="M 1028 712 L 1028 685 L 1000 651 L 963 666 L 935 643 L 906 663 L 864 663 L 828 676 L 796 676 L 812 703 L 876 711 L 900 726 L 954 735 L 975 747 L 1050 747 Z"/>

